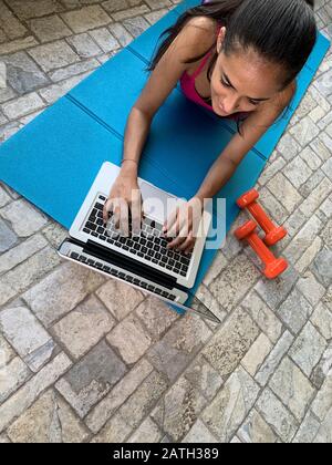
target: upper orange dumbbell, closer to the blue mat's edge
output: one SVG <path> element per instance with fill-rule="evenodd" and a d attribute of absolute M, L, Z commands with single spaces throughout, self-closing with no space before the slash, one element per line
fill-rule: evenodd
<path fill-rule="evenodd" d="M 273 246 L 279 240 L 283 239 L 287 230 L 282 226 L 276 226 L 268 217 L 262 207 L 256 202 L 259 194 L 256 189 L 248 190 L 238 200 L 237 205 L 240 208 L 248 208 L 256 221 L 266 231 L 264 242 L 267 246 Z"/>

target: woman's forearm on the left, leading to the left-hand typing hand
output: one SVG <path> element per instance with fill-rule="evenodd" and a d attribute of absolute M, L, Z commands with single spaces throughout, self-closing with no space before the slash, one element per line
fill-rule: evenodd
<path fill-rule="evenodd" d="M 152 118 L 135 106 L 132 108 L 125 130 L 123 159 L 131 159 L 133 162 L 125 162 L 122 164 L 122 170 L 137 176 L 138 164 L 144 144 L 146 142 Z"/>

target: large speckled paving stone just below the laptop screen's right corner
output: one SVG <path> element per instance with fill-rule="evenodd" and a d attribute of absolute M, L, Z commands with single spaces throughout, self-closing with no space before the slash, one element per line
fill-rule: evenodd
<path fill-rule="evenodd" d="M 230 375 L 259 335 L 253 320 L 238 308 L 204 348 L 203 354 L 221 376 Z"/>

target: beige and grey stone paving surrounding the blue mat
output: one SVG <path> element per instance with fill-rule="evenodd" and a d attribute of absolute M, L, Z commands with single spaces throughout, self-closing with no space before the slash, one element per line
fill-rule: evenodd
<path fill-rule="evenodd" d="M 1 141 L 175 3 L 0 0 Z M 199 289 L 220 326 L 61 261 L 63 228 L 0 185 L 0 442 L 332 442 L 331 105 L 330 49 L 257 185 L 290 268 L 262 277 L 241 213 Z"/>

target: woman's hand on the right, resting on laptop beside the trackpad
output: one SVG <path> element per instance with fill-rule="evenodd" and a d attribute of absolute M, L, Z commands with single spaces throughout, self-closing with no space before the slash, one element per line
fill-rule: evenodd
<path fill-rule="evenodd" d="M 185 254 L 194 249 L 203 209 L 201 200 L 193 197 L 172 211 L 163 228 L 164 235 L 173 238 L 167 248 L 176 248 Z"/>

